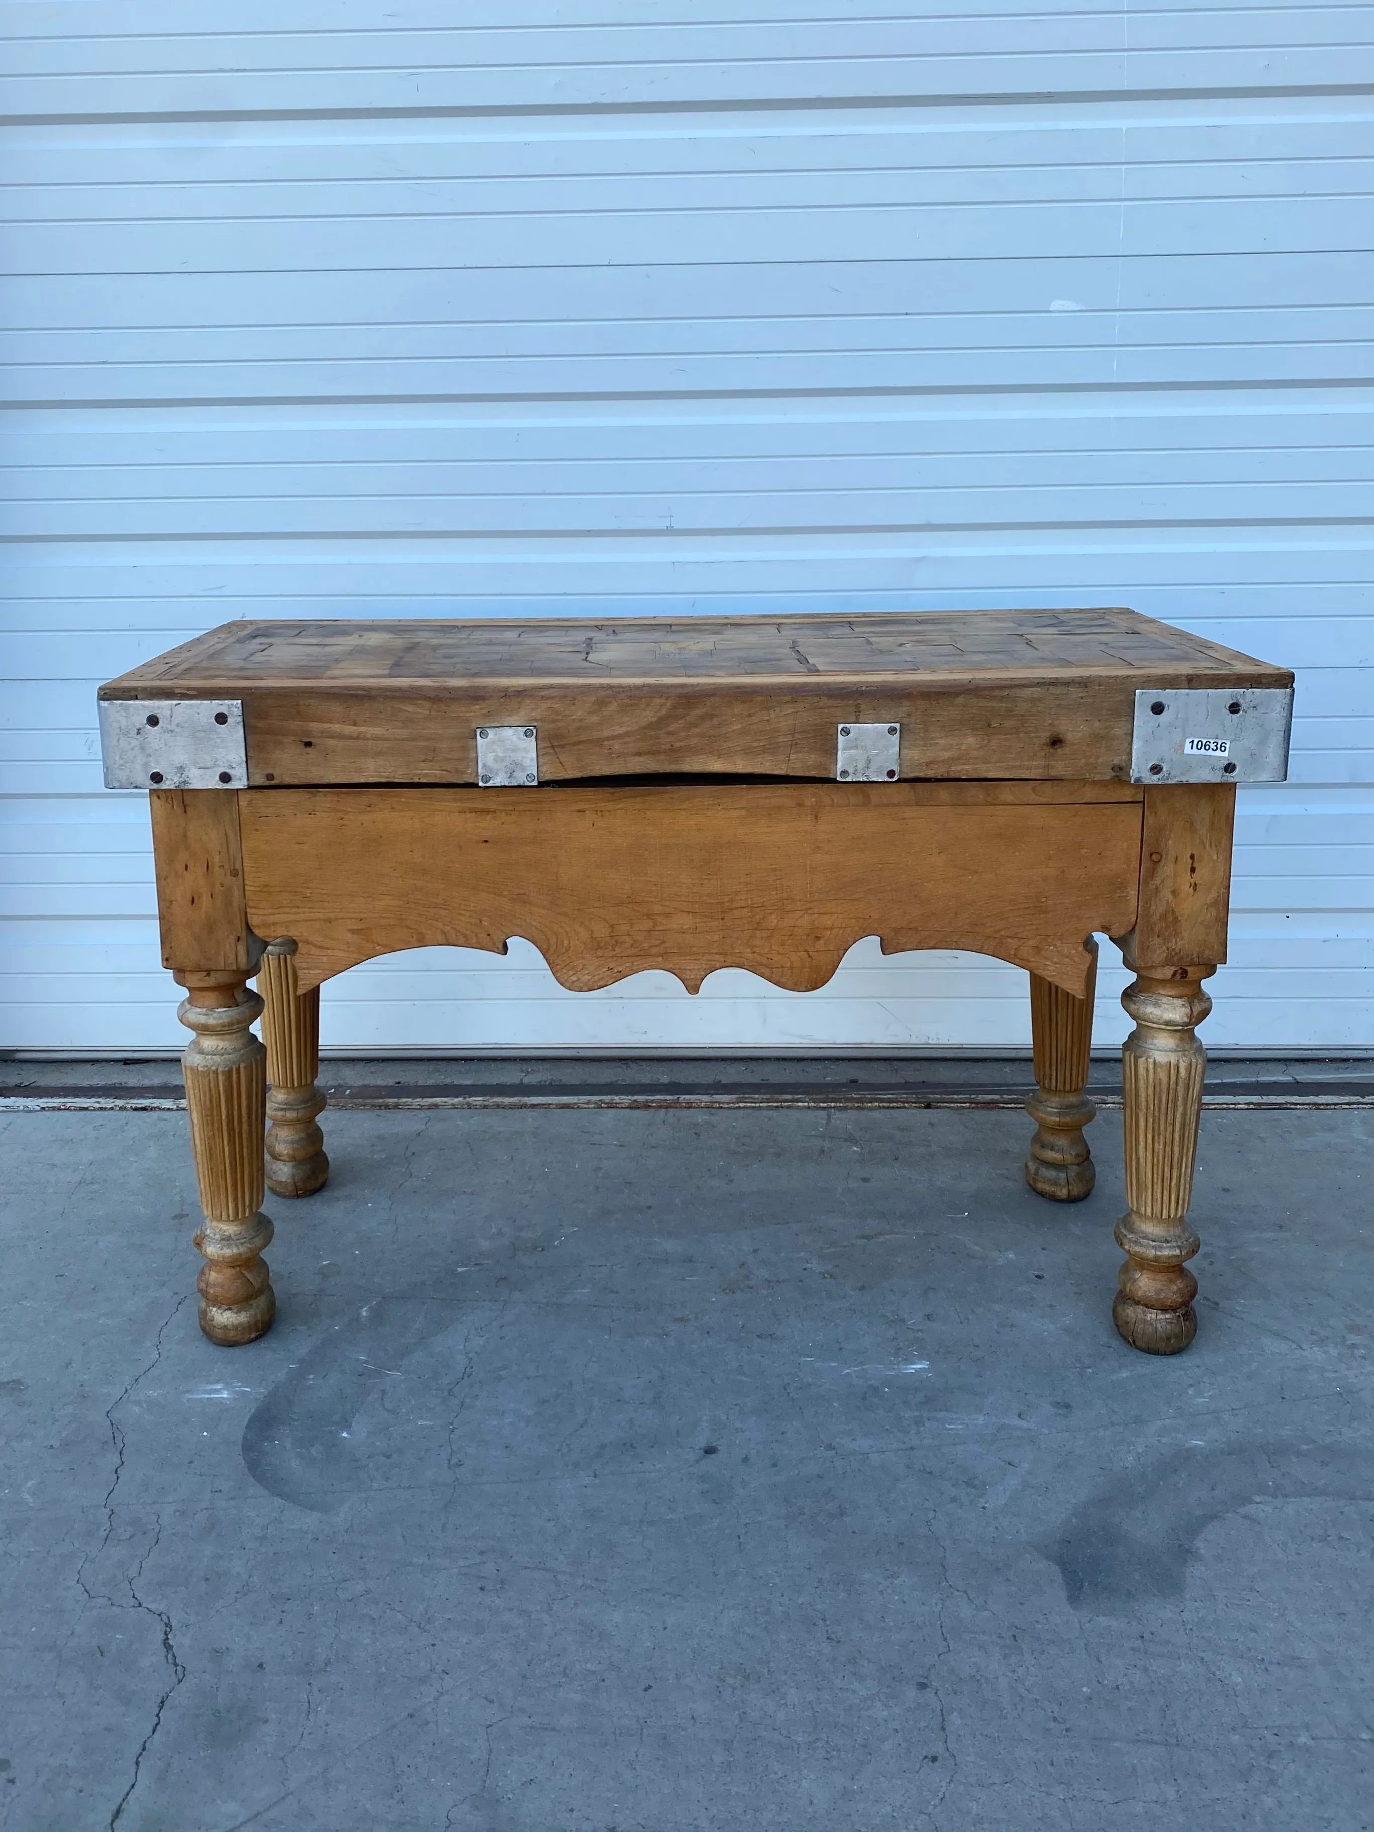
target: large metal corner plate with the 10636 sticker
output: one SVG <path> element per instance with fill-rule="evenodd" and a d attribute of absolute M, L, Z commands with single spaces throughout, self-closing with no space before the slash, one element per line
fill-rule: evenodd
<path fill-rule="evenodd" d="M 1136 694 L 1132 782 L 1282 782 L 1292 687 L 1161 687 Z"/>

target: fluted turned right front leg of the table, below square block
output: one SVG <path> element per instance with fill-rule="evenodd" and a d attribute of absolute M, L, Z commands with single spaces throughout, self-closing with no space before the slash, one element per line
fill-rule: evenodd
<path fill-rule="evenodd" d="M 1215 971 L 1138 967 L 1136 982 L 1121 993 L 1136 1028 L 1123 1048 L 1130 1209 L 1116 1226 L 1127 1262 L 1112 1317 L 1132 1348 L 1152 1356 L 1178 1354 L 1198 1328 L 1198 1281 L 1185 1264 L 1198 1237 L 1187 1207 L 1207 1055 L 1193 1030 L 1211 1011 L 1202 980 Z"/>

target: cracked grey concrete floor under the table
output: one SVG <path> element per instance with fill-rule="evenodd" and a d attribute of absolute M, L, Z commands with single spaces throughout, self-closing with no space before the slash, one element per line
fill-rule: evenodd
<path fill-rule="evenodd" d="M 0 1825 L 1369 1828 L 1370 1130 L 1205 1116 L 1161 1361 L 1119 1114 L 335 1114 L 234 1350 L 185 1118 L 7 1116 Z"/>

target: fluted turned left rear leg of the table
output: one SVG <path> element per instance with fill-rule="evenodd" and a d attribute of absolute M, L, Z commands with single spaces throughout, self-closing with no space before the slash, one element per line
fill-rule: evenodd
<path fill-rule="evenodd" d="M 266 1002 L 262 1037 L 267 1044 L 267 1189 L 275 1196 L 313 1196 L 324 1187 L 330 1160 L 317 1119 L 324 1096 L 319 1074 L 319 986 L 299 993 L 295 942 L 269 942 L 258 967 Z"/>

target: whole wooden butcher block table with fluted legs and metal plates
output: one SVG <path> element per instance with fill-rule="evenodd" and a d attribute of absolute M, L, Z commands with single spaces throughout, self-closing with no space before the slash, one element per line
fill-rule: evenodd
<path fill-rule="evenodd" d="M 150 791 L 194 1033 L 202 1328 L 271 1325 L 264 1127 L 266 1183 L 317 1191 L 319 987 L 357 962 L 524 936 L 562 986 L 694 993 L 812 991 L 870 934 L 993 954 L 1030 973 L 1026 1176 L 1077 1202 L 1107 934 L 1136 975 L 1114 1317 L 1185 1348 L 1194 1026 L 1235 784 L 1284 777 L 1292 680 L 1130 610 L 989 610 L 225 623 L 110 682 L 106 784 Z"/>

